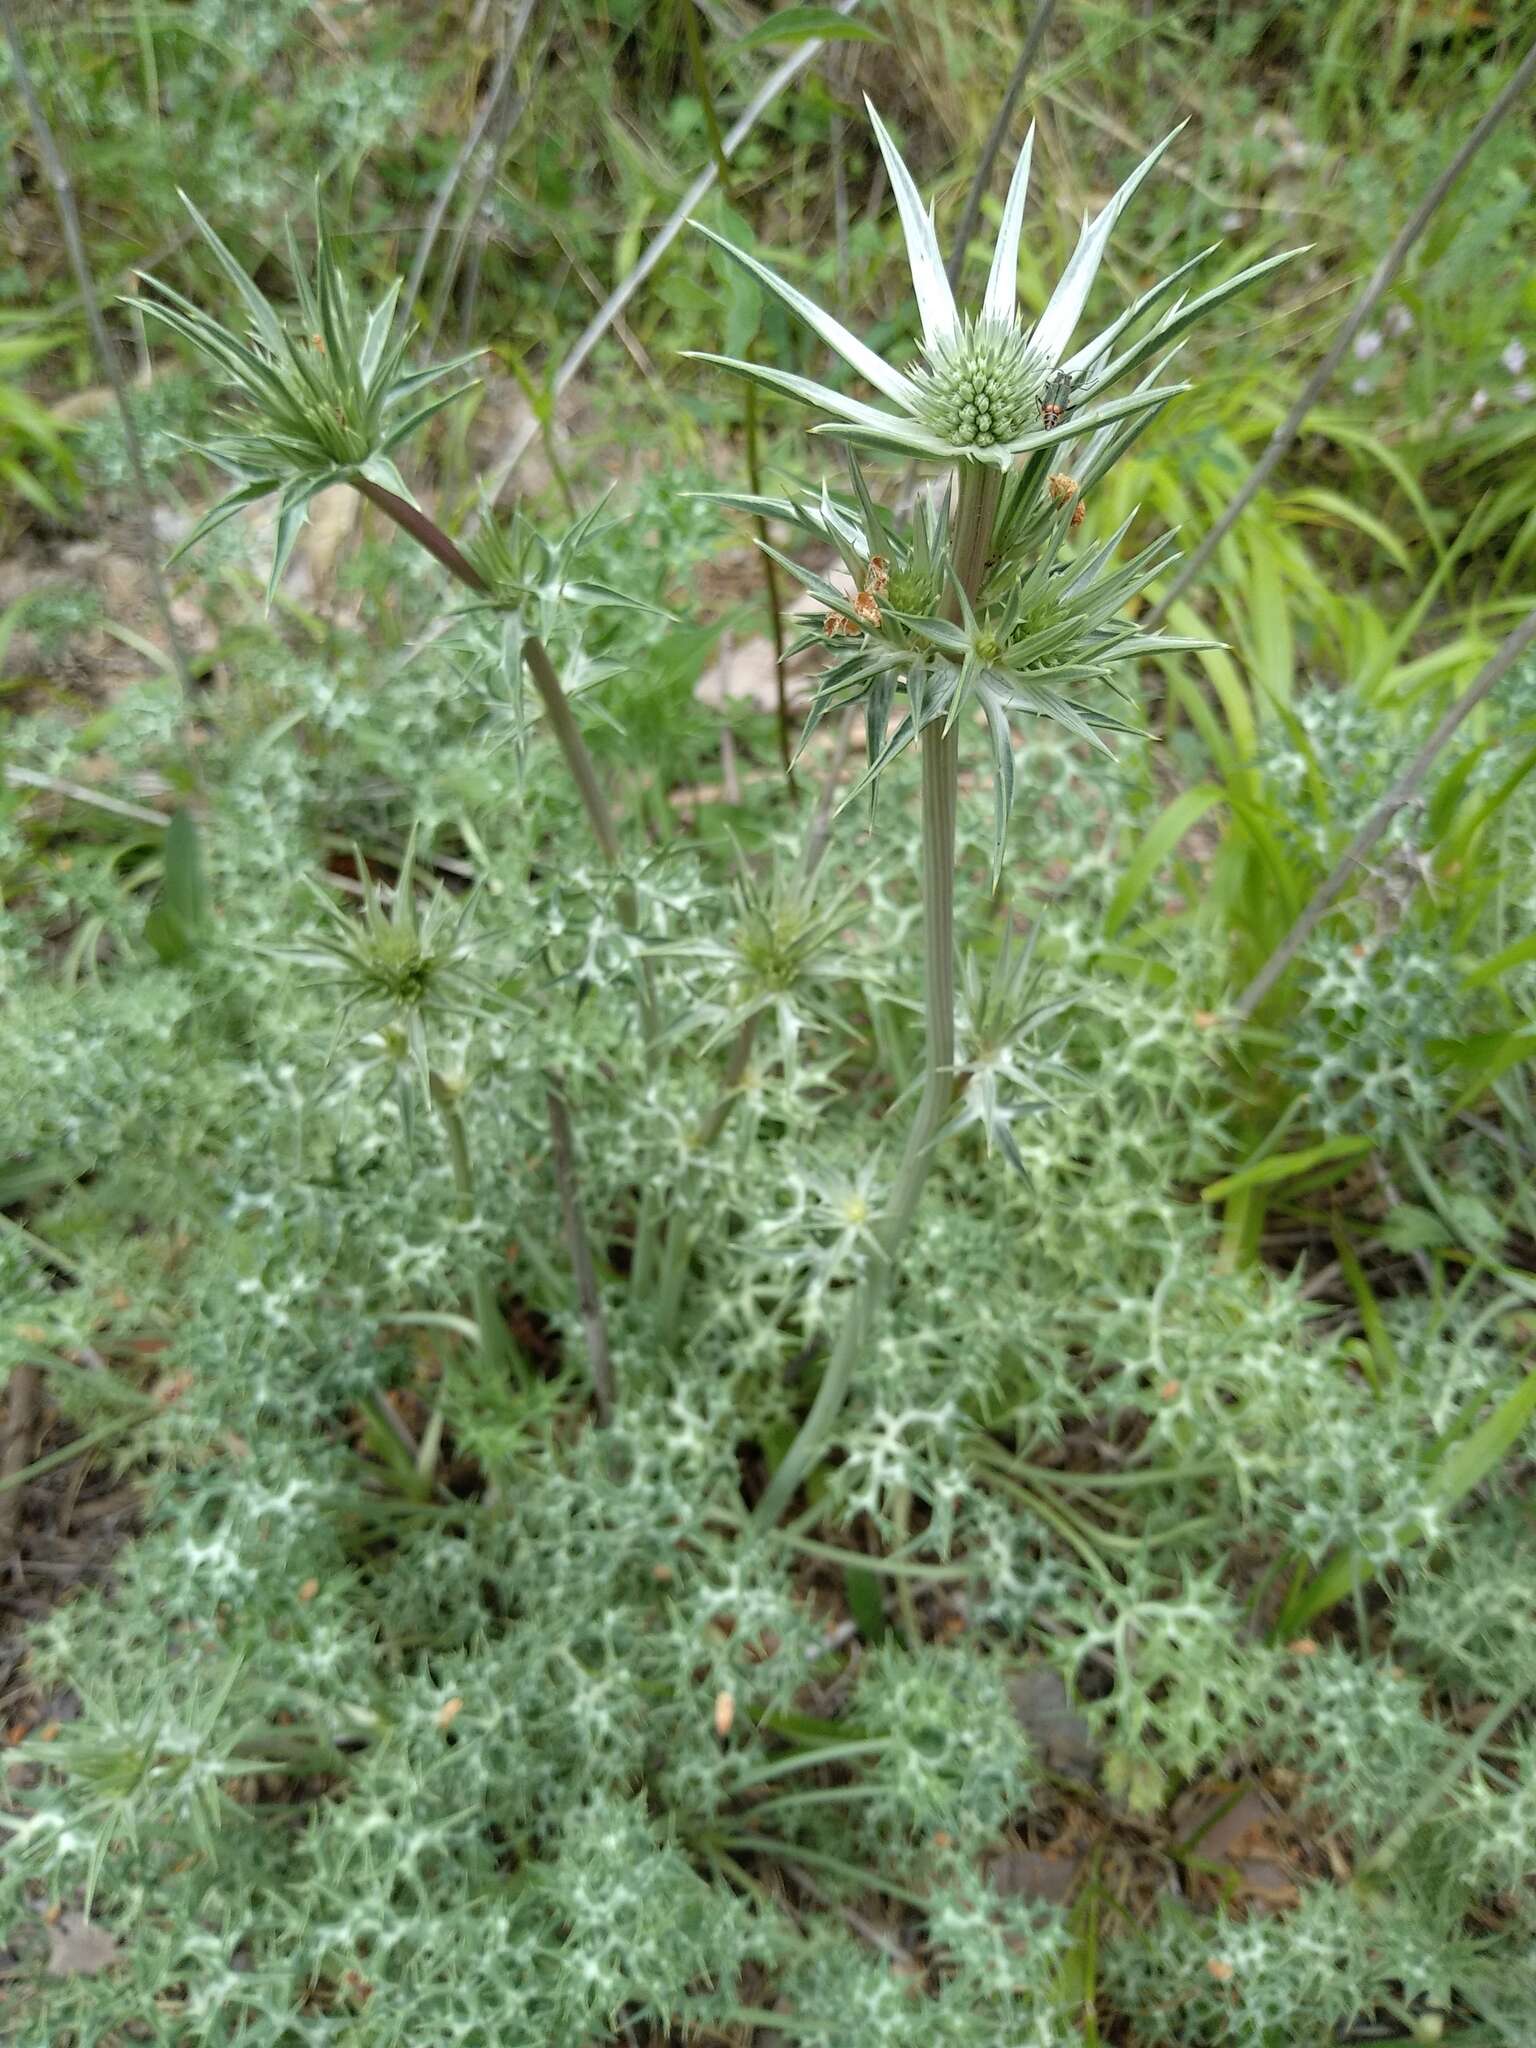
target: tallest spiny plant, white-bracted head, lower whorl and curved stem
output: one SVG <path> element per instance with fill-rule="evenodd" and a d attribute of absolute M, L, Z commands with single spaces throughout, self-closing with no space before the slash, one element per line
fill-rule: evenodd
<path fill-rule="evenodd" d="M 1069 692 L 1083 684 L 1112 686 L 1116 668 L 1192 645 L 1141 633 L 1118 616 L 1167 567 L 1171 537 L 1122 563 L 1122 526 L 1077 553 L 1073 532 L 1083 522 L 1085 492 L 1149 420 L 1188 389 L 1161 381 L 1174 354 L 1169 344 L 1202 313 L 1286 260 L 1280 254 L 1249 264 L 1188 299 L 1178 287 L 1210 254 L 1202 250 L 1069 352 L 1110 233 L 1178 129 L 1083 223 L 1044 309 L 1026 322 L 1018 309 L 1018 248 L 1034 147 L 1030 129 L 1008 188 L 981 309 L 963 315 L 944 274 L 932 211 L 924 209 L 881 117 L 872 106 L 868 113 L 907 244 L 922 326 L 918 362 L 901 367 L 877 354 L 768 264 L 702 229 L 872 385 L 885 408 L 772 365 L 717 354 L 702 354 L 700 360 L 719 362 L 825 414 L 813 432 L 850 449 L 889 449 L 952 465 L 948 492 L 920 504 L 907 530 L 877 508 L 856 461 L 852 502 L 834 502 L 825 487 L 819 502 L 737 500 L 760 516 L 786 518 L 834 541 L 848 569 L 852 592 L 786 563 L 819 598 L 817 637 L 834 655 L 817 692 L 815 717 L 834 705 L 866 705 L 870 782 L 909 741 L 922 741 L 922 1100 L 883 1206 L 881 1257 L 870 1262 L 852 1294 L 811 1413 L 764 1493 L 764 1522 L 791 1501 L 827 1442 L 883 1311 L 936 1143 L 952 1124 L 961 715 L 967 707 L 979 711 L 989 737 L 997 791 L 995 866 L 1001 868 L 1014 793 L 1012 721 L 1047 717 L 1079 739 L 1094 739 L 1094 727 L 1120 721 Z M 1133 330 L 1139 330 L 1135 338 Z M 1139 385 L 1118 397 L 1108 395 L 1112 385 L 1124 385 L 1147 362 L 1153 369 Z M 905 711 L 891 731 L 897 696 L 905 696 Z M 1006 1112 L 991 1104 L 989 1128 L 999 1122 L 1006 1128 Z"/>

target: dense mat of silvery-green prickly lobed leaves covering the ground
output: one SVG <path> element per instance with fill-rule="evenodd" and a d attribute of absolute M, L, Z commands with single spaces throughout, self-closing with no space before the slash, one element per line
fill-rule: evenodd
<path fill-rule="evenodd" d="M 627 584 L 657 530 L 686 575 L 692 516 L 643 504 L 600 537 L 594 578 Z M 410 612 L 430 580 L 399 551 L 389 563 Z M 614 688 L 641 723 L 676 702 L 662 684 L 645 694 L 629 614 L 590 621 L 594 659 L 623 651 Z M 748 1997 L 772 2001 L 784 2038 L 827 2048 L 1067 2048 L 1077 1923 L 981 1878 L 985 1851 L 1055 1796 L 1010 1671 L 1049 1657 L 1073 1679 L 1102 1743 L 1096 1800 L 1155 1806 L 1188 1778 L 1284 1761 L 1309 1825 L 1350 1855 L 1378 1849 L 1436 1788 L 1460 1720 L 1530 1686 L 1520 1473 L 1452 1509 L 1425 1458 L 1507 1393 L 1524 1307 L 1481 1282 L 1450 1317 L 1421 1292 L 1384 1300 L 1399 1366 L 1374 1391 L 1305 1272 L 1217 1266 L 1198 1188 L 1229 1167 L 1237 1110 L 1219 1034 L 1194 1016 L 1212 946 L 1188 926 L 1143 958 L 1106 946 L 1116 776 L 1139 758 L 1110 768 L 1047 733 L 1020 762 L 1042 852 L 1020 901 L 1042 926 L 1030 999 L 1059 1006 L 1044 1038 L 1071 1085 L 1051 1116 L 1008 1124 L 1026 1176 L 987 1161 L 979 1128 L 946 1145 L 819 1501 L 840 1546 L 874 1534 L 938 1573 L 918 1593 L 963 1626 L 918 1649 L 840 1640 L 840 1567 L 791 1538 L 741 1542 L 741 1468 L 803 1405 L 795 1362 L 825 1343 L 883 1200 L 870 1114 L 918 1073 L 911 821 L 893 801 L 870 823 L 848 815 L 819 905 L 852 891 L 860 915 L 829 930 L 774 893 L 750 807 L 758 905 L 737 899 L 735 924 L 719 848 L 635 864 L 662 1012 L 698 1030 L 686 1047 L 729 1038 L 770 985 L 788 1012 L 793 1061 L 768 1006 L 725 1137 L 700 1147 L 723 1059 L 649 1057 L 612 885 L 541 772 L 537 729 L 526 772 L 487 745 L 487 696 L 463 686 L 479 625 L 457 631 L 453 659 L 401 653 L 383 674 L 342 629 L 326 659 L 252 637 L 209 741 L 213 918 L 184 969 L 150 958 L 147 889 L 131 862 L 90 858 L 84 834 L 68 864 L 37 864 L 0 932 L 2 1149 L 53 1163 L 29 1214 L 80 1268 L 59 1286 L 4 1233 L 6 1298 L 63 1358 L 47 1370 L 70 1423 L 121 1430 L 106 1454 L 147 1475 L 111 1593 L 35 1632 L 31 1675 L 78 1690 L 82 1714 L 8 1751 L 31 1780 L 0 1870 L 23 1937 L 8 1997 L 39 2040 L 102 2048 L 125 2021 L 207 2048 L 594 2048 L 614 2015 L 729 2038 Z M 162 690 L 133 692 L 94 743 L 125 778 L 160 770 L 172 711 Z M 305 743 L 283 743 L 297 725 Z M 12 739 L 18 760 L 80 778 L 82 741 L 55 717 L 18 719 Z M 958 844 L 983 997 L 1004 954 L 985 811 L 963 813 Z M 397 874 L 414 817 L 418 868 L 446 852 L 444 885 L 479 885 L 463 965 L 504 997 L 455 1006 L 434 1040 L 473 1073 L 473 1221 L 369 1049 L 336 1042 L 334 979 L 293 956 L 322 922 L 301 877 L 336 866 L 336 840 Z M 20 834 L 8 848 L 27 852 Z M 778 848 L 782 874 L 791 858 Z M 754 918 L 791 911 L 809 924 L 788 946 L 741 944 Z M 100 942 L 66 993 L 51 934 L 86 913 Z M 377 1022 L 358 1018 L 360 1036 Z M 1427 1047 L 1407 1057 L 1409 1092 L 1434 1092 Z M 621 1384 L 608 1432 L 575 1421 L 547 1063 L 578 1124 Z M 1497 1217 L 1507 1153 L 1470 1133 L 1444 1157 L 1456 1196 Z M 489 1384 L 453 1333 L 414 1321 L 461 1313 L 481 1262 L 508 1311 L 553 1337 L 526 1382 Z M 8 1327 L 0 1343 L 8 1368 L 37 1339 Z M 92 1350 L 111 1372 L 70 1370 Z M 475 1473 L 465 1493 L 391 1477 L 385 1395 L 440 1411 L 444 1460 Z M 983 1444 L 1038 1466 L 1034 1505 L 995 1483 Z M 1118 1518 L 1051 1493 L 1085 1444 L 1135 1481 Z M 1063 1501 L 1077 1544 L 1051 1520 Z M 1364 1556 L 1380 1638 L 1352 1642 L 1346 1602 L 1315 1659 L 1268 1649 L 1245 1559 L 1280 1550 Z M 803 1761 L 813 1741 L 780 1729 L 807 1698 L 870 1747 Z M 758 1782 L 788 1749 L 797 1767 Z M 1530 1774 L 1516 1720 L 1444 1780 L 1370 1884 L 1313 1876 L 1272 1917 L 1102 1915 L 1100 2013 L 1130 2038 L 1292 2048 L 1454 1993 L 1522 2040 L 1507 1964 L 1530 1933 L 1516 1890 Z M 774 1810 L 799 1790 L 836 1798 Z M 713 1862 L 743 1829 L 776 1843 L 729 1847 L 760 1890 Z M 797 1851 L 829 1901 L 803 1925 L 770 1903 Z M 37 1907 L 92 1866 L 121 1960 L 47 1978 Z M 924 1903 L 881 1898 L 877 1880 Z M 1487 1952 L 1468 1903 L 1497 1915 Z"/>

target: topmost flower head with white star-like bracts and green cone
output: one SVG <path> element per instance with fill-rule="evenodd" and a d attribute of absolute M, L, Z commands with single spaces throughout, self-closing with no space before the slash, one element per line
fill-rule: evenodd
<path fill-rule="evenodd" d="M 1180 129 L 1165 135 L 1137 164 L 1110 203 L 1083 221 L 1077 248 L 1061 272 L 1044 311 L 1034 324 L 1024 324 L 1018 317 L 1018 246 L 1024 229 L 1034 129 L 1024 137 L 1024 147 L 1008 186 L 981 311 L 963 315 L 944 274 L 932 209 L 926 209 L 918 197 L 911 172 L 872 106 L 868 115 L 874 123 L 874 137 L 881 145 L 901 215 L 907 264 L 911 266 L 911 285 L 922 319 L 922 358 L 915 365 L 901 369 L 889 362 L 860 342 L 840 319 L 834 319 L 831 313 L 815 305 L 813 299 L 807 299 L 805 293 L 758 262 L 756 256 L 748 256 L 745 250 L 735 248 L 723 236 L 702 227 L 702 223 L 694 223 L 700 227 L 700 233 L 707 233 L 727 256 L 743 264 L 760 285 L 813 328 L 864 383 L 879 391 L 887 408 L 868 406 L 842 391 L 834 391 L 829 385 L 815 383 L 811 377 L 797 377 L 791 371 L 778 371 L 770 365 L 743 362 L 735 356 L 717 356 L 702 350 L 692 350 L 692 354 L 702 362 L 719 362 L 723 369 L 752 377 L 772 391 L 782 391 L 813 406 L 817 412 L 829 414 L 817 432 L 836 434 L 840 440 L 858 446 L 895 449 L 903 455 L 930 457 L 934 461 L 993 463 L 999 469 L 1010 469 L 1016 457 L 1032 449 L 1047 449 L 1067 436 L 1092 432 L 1098 426 L 1108 426 L 1114 420 L 1151 412 L 1165 403 L 1182 385 L 1143 383 L 1124 397 L 1100 403 L 1096 403 L 1096 395 L 1126 371 L 1149 360 L 1198 319 L 1200 313 L 1286 260 L 1286 256 L 1272 256 L 1194 301 L 1186 301 L 1184 297 L 1174 299 L 1139 342 L 1130 344 L 1118 358 L 1112 356 L 1110 350 L 1126 328 L 1143 313 L 1149 313 L 1153 305 L 1167 299 L 1180 279 L 1210 254 L 1206 248 L 1153 285 L 1151 291 L 1145 291 L 1135 305 L 1126 307 L 1094 340 L 1067 354 L 1114 225 Z"/>

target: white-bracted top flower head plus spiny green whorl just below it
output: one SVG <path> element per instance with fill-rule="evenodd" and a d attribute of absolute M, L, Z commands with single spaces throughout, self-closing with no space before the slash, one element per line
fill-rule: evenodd
<path fill-rule="evenodd" d="M 1286 254 L 1251 264 L 1192 301 L 1180 295 L 1163 303 L 1210 254 L 1206 250 L 1067 354 L 1110 233 L 1174 137 L 1165 137 L 1110 203 L 1083 223 L 1044 311 L 1026 326 L 1018 315 L 1018 248 L 1034 131 L 1024 141 L 1008 190 L 983 307 L 961 315 L 932 213 L 924 211 L 874 109 L 870 119 L 907 242 L 924 362 L 901 371 L 756 256 L 702 229 L 893 408 L 883 412 L 770 365 L 705 354 L 707 362 L 831 414 L 815 432 L 834 434 L 850 451 L 852 504 L 834 500 L 825 485 L 819 502 L 741 494 L 725 494 L 725 502 L 758 518 L 786 518 L 829 539 L 842 555 L 852 590 L 762 543 L 821 606 L 819 651 L 825 659 L 805 737 L 831 709 L 854 700 L 864 705 L 868 768 L 860 788 L 872 793 L 881 772 L 926 725 L 944 721 L 948 729 L 963 713 L 981 711 L 993 768 L 997 879 L 1014 807 L 1014 727 L 1053 721 L 1075 739 L 1104 745 L 1100 731 L 1128 733 L 1133 727 L 1083 698 L 1085 684 L 1114 690 L 1116 676 L 1130 674 L 1149 655 L 1206 645 L 1141 631 L 1122 616 L 1130 600 L 1167 569 L 1176 555 L 1171 535 L 1120 561 L 1133 514 L 1118 532 L 1079 555 L 1069 543 L 1083 520 L 1087 494 L 1157 412 L 1188 389 L 1159 383 L 1169 344 L 1206 311 L 1284 262 Z M 1153 313 L 1145 332 L 1116 354 L 1116 342 Z M 1157 354 L 1161 360 L 1141 383 L 1118 397 L 1104 395 Z M 958 496 L 950 504 L 944 496 L 948 485 L 940 485 L 920 498 L 909 522 L 877 510 L 854 453 L 862 446 L 958 465 L 961 477 L 975 477 L 977 467 L 1001 471 L 989 545 L 969 590 L 958 584 L 952 553 L 950 522 L 958 518 Z M 1055 473 L 1053 463 L 1059 465 Z M 907 709 L 891 725 L 897 696 Z"/>

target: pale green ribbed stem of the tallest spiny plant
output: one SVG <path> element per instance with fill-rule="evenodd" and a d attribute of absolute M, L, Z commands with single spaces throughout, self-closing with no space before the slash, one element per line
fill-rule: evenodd
<path fill-rule="evenodd" d="M 997 516 L 1001 473 L 963 465 L 954 487 L 952 559 L 954 575 L 975 604 L 987 573 L 987 547 Z M 954 606 L 958 610 L 958 604 Z M 827 1438 L 842 1413 L 848 1389 L 864 1350 L 885 1309 L 901 1245 L 918 1214 L 924 1182 L 934 1163 L 934 1143 L 948 1122 L 954 1096 L 954 805 L 958 795 L 961 731 L 948 731 L 942 719 L 924 727 L 922 735 L 924 793 L 924 1092 L 918 1114 L 907 1130 L 891 1206 L 881 1225 L 881 1260 L 854 1288 L 848 1315 L 821 1374 L 811 1413 L 784 1454 L 768 1491 L 758 1503 L 756 1522 L 778 1520 L 795 1497 L 795 1489 L 815 1468 Z"/>

